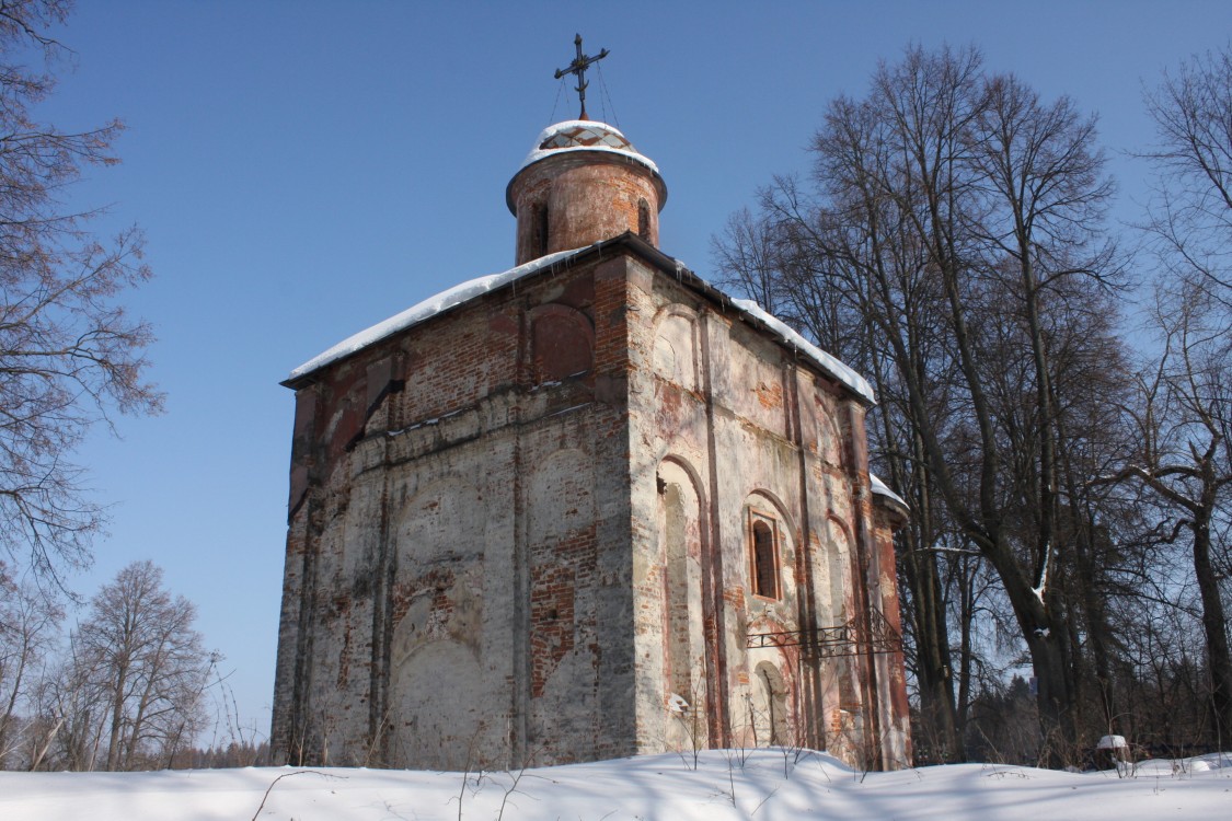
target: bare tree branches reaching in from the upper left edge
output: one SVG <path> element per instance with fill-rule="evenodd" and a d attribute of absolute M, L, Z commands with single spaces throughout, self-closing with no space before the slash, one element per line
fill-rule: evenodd
<path fill-rule="evenodd" d="M 84 167 L 118 161 L 121 123 L 65 133 L 32 118 L 55 81 L 22 59 L 57 62 L 65 49 L 43 32 L 70 5 L 0 2 L 0 545 L 57 582 L 89 561 L 102 519 L 70 454 L 115 410 L 161 404 L 143 377 L 150 329 L 116 303 L 150 276 L 142 235 L 102 241 L 85 230 L 100 212 L 63 206 Z"/>

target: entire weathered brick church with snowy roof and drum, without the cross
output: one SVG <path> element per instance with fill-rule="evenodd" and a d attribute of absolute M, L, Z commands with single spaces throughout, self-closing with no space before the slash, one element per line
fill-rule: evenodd
<path fill-rule="evenodd" d="M 871 393 L 658 251 L 665 197 L 616 129 L 549 128 L 506 192 L 521 267 L 285 383 L 282 759 L 909 761 Z"/>

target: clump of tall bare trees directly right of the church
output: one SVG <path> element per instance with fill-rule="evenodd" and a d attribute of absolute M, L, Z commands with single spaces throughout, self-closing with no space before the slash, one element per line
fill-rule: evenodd
<path fill-rule="evenodd" d="M 1103 587 L 1084 604 L 1071 579 L 1099 542 L 1083 494 L 1108 455 L 1090 443 L 1101 400 L 1127 382 L 1109 319 L 1120 270 L 1101 230 L 1111 185 L 1094 123 L 1067 98 L 1044 103 L 987 73 L 976 49 L 910 48 L 878 68 L 867 96 L 829 106 L 812 149 L 813 192 L 776 181 L 760 214 L 737 218 L 755 230 L 729 226 L 717 258 L 752 261 L 731 278 L 770 294 L 877 385 L 873 455 L 917 512 L 899 566 L 930 732 L 952 739 L 961 724 L 981 675 L 971 619 L 999 598 L 1029 649 L 1041 735 L 1069 755 L 1084 651 L 1072 617 L 1104 622 Z M 749 251 L 759 236 L 774 254 Z M 835 294 L 861 341 L 827 335 Z M 970 556 L 995 571 L 999 596 Z"/>

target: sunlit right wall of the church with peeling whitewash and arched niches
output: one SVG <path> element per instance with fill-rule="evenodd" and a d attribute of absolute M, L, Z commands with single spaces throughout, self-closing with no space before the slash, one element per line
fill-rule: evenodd
<path fill-rule="evenodd" d="M 630 340 L 639 748 L 850 745 L 827 725 L 864 708 L 859 659 L 747 644 L 855 612 L 850 439 L 864 406 L 670 277 L 636 277 L 632 292 L 643 319 Z M 669 579 L 674 494 L 697 506 L 683 591 Z M 775 596 L 754 592 L 753 521 L 775 529 Z M 674 596 L 699 602 L 691 622 L 673 615 Z M 673 695 L 695 711 L 669 709 Z"/>

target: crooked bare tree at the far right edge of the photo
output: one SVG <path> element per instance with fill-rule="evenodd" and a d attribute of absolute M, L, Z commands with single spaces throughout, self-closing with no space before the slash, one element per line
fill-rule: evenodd
<path fill-rule="evenodd" d="M 1141 448 L 1119 478 L 1156 497 L 1167 540 L 1189 539 L 1218 742 L 1232 732 L 1232 47 L 1167 73 L 1146 103 L 1157 142 L 1142 156 L 1157 181 L 1142 228 L 1158 262 L 1162 353 L 1140 377 L 1130 416 Z"/>

